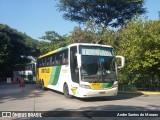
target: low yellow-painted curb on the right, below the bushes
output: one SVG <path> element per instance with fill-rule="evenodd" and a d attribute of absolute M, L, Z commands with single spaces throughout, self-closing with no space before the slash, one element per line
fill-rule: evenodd
<path fill-rule="evenodd" d="M 121 94 L 141 94 L 141 95 L 160 95 L 160 92 L 151 91 L 118 91 Z"/>

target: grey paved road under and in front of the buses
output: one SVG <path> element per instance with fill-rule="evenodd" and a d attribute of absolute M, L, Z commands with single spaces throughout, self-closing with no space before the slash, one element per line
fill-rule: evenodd
<path fill-rule="evenodd" d="M 42 111 L 45 114 L 50 114 L 50 111 L 61 111 L 58 113 L 58 119 L 69 120 L 71 118 L 63 115 L 63 112 L 69 112 L 64 114 L 74 113 L 73 119 L 103 119 L 105 112 L 111 114 L 116 111 L 124 112 L 127 114 L 132 111 L 160 111 L 160 95 L 135 95 L 135 94 L 118 94 L 112 97 L 97 97 L 97 98 L 85 98 L 79 99 L 73 97 L 72 99 L 66 99 L 63 94 L 47 90 L 42 91 L 37 85 L 26 84 L 25 87 L 19 87 L 12 84 L 0 85 L 0 111 Z M 79 115 L 77 111 L 92 111 L 88 113 L 95 115 L 96 112 L 102 111 L 102 117 L 96 115 L 83 116 Z M 51 113 L 52 114 L 52 113 Z M 62 114 L 62 116 L 61 116 Z M 77 116 L 80 117 L 76 117 Z M 43 117 L 42 117 L 43 118 Z M 49 117 L 45 117 L 50 119 Z M 123 119 L 160 119 L 159 117 L 107 117 L 110 120 L 123 120 Z M 0 118 L 1 119 L 1 118 Z M 4 118 L 3 118 L 4 119 Z M 7 119 L 7 118 L 6 118 Z M 26 118 L 25 118 L 26 119 Z M 34 118 L 35 119 L 35 118 Z"/>

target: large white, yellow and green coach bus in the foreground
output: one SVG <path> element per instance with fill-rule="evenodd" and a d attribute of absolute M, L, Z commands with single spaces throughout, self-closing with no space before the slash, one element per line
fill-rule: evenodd
<path fill-rule="evenodd" d="M 74 43 L 38 57 L 36 82 L 43 90 L 62 92 L 66 98 L 114 96 L 117 68 L 124 67 L 124 60 L 115 56 L 111 46 Z"/>

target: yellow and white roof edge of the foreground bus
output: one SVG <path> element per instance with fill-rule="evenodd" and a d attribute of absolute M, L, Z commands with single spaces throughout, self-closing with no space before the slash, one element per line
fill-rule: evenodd
<path fill-rule="evenodd" d="M 57 52 L 60 52 L 60 51 L 62 51 L 62 50 L 65 50 L 65 49 L 67 49 L 67 48 L 69 48 L 69 47 L 79 46 L 79 45 L 101 46 L 101 47 L 110 47 L 110 48 L 112 48 L 112 46 L 109 46 L 109 45 L 101 45 L 101 44 L 93 44 L 93 43 L 73 43 L 73 44 L 70 44 L 70 45 L 68 45 L 68 46 L 66 46 L 66 47 L 61 47 L 61 48 L 58 48 L 58 49 L 56 49 L 56 50 L 50 51 L 50 52 L 48 52 L 48 53 L 46 53 L 46 54 L 44 54 L 44 55 L 39 56 L 38 58 L 43 58 L 43 57 L 48 56 L 48 55 L 51 55 L 51 54 L 53 54 L 53 53 L 57 53 Z"/>

